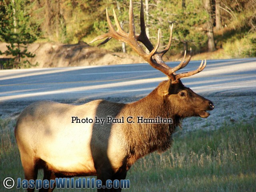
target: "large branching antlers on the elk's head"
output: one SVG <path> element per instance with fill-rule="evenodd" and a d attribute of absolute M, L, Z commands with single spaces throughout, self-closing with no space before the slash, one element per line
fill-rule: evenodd
<path fill-rule="evenodd" d="M 116 40 L 119 40 L 121 42 L 125 42 L 129 44 L 134 51 L 136 51 L 146 62 L 148 62 L 152 67 L 156 68 L 157 70 L 160 70 L 164 74 L 166 74 L 169 79 L 172 81 L 172 83 L 178 82 L 180 78 L 192 76 L 196 73 L 199 73 L 202 71 L 206 66 L 206 60 L 201 62 L 199 68 L 197 70 L 181 73 L 181 74 L 175 74 L 176 71 L 184 68 L 191 58 L 191 48 L 190 48 L 190 56 L 188 57 L 188 60 L 186 60 L 186 51 L 184 53 L 184 57 L 180 64 L 178 66 L 175 66 L 174 68 L 170 68 L 163 60 L 162 56 L 170 49 L 171 43 L 172 43 L 172 27 L 170 27 L 170 38 L 168 45 L 164 50 L 161 52 L 157 52 L 159 43 L 160 43 L 160 30 L 158 30 L 158 39 L 157 44 L 154 48 L 150 40 L 148 39 L 148 36 L 146 35 L 145 30 L 145 22 L 144 22 L 144 9 L 143 9 L 143 2 L 141 0 L 141 8 L 140 8 L 140 34 L 135 34 L 135 28 L 134 28 L 134 16 L 133 16 L 133 8 L 132 8 L 132 0 L 130 0 L 130 8 L 129 8 L 129 33 L 126 33 L 122 27 L 120 26 L 120 23 L 118 21 L 118 18 L 116 16 L 116 12 L 113 8 L 114 12 L 114 20 L 116 22 L 117 30 L 114 29 L 114 26 L 112 25 L 112 22 L 110 21 L 110 18 L 108 16 L 108 10 L 106 9 L 106 17 L 108 21 L 109 31 L 106 34 L 100 35 L 96 38 L 94 38 L 89 44 L 106 38 L 103 42 L 101 42 L 99 45 L 105 44 L 108 42 L 111 38 L 115 38 Z M 149 54 L 146 54 L 146 52 L 141 48 L 141 46 L 138 44 L 138 41 L 142 42 L 144 46 L 150 51 Z M 154 56 L 154 58 L 153 58 Z"/>

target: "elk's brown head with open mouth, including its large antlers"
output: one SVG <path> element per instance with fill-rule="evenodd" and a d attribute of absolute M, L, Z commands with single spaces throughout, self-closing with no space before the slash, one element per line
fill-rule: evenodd
<path fill-rule="evenodd" d="M 117 30 L 114 29 L 112 22 L 108 16 L 108 11 L 106 9 L 106 17 L 108 21 L 109 31 L 106 34 L 100 35 L 94 38 L 89 44 L 95 42 L 97 40 L 101 40 L 106 38 L 103 42 L 99 45 L 105 44 L 111 38 L 115 38 L 121 42 L 125 42 L 129 44 L 134 51 L 136 51 L 146 62 L 148 62 L 152 67 L 160 70 L 166 76 L 168 76 L 169 80 L 160 83 L 160 85 L 156 88 L 158 96 L 164 99 L 165 103 L 168 103 L 172 106 L 173 111 L 172 114 L 175 114 L 181 118 L 189 117 L 189 116 L 200 116 L 202 118 L 207 118 L 210 114 L 206 112 L 207 110 L 213 110 L 214 105 L 210 100 L 196 94 L 190 88 L 185 87 L 182 82 L 180 81 L 181 78 L 192 76 L 201 72 L 206 67 L 206 60 L 202 60 L 200 66 L 197 70 L 176 74 L 176 71 L 184 68 L 191 59 L 191 54 L 186 60 L 186 51 L 184 53 L 184 57 L 178 66 L 173 68 L 169 67 L 163 60 L 162 56 L 170 49 L 172 43 L 172 28 L 173 25 L 170 27 L 170 38 L 168 45 L 166 48 L 160 52 L 158 52 L 158 46 L 160 43 L 160 30 L 158 30 L 158 40 L 157 44 L 154 47 L 148 36 L 146 35 L 145 30 L 145 22 L 144 22 L 144 10 L 143 10 L 143 2 L 141 0 L 141 9 L 140 9 L 140 34 L 135 34 L 135 27 L 134 27 L 134 16 L 133 16 L 133 8 L 132 8 L 132 0 L 130 0 L 130 8 L 129 8 L 129 32 L 126 33 L 116 16 L 116 12 L 113 9 L 114 13 L 114 20 L 116 22 Z M 146 46 L 146 48 L 150 51 L 147 54 L 140 44 L 141 42 Z M 190 48 L 191 53 L 191 48 Z"/>

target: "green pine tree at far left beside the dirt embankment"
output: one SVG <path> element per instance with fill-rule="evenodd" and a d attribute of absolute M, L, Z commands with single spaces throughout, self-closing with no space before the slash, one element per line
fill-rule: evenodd
<path fill-rule="evenodd" d="M 26 0 L 10 0 L 1 4 L 0 38 L 8 43 L 7 50 L 0 52 L 6 56 L 11 55 L 11 63 L 6 68 L 20 68 L 22 65 L 30 67 L 31 63 L 22 58 L 34 57 L 28 52 L 27 45 L 33 43 L 38 35 L 38 25 L 32 23 L 29 2 Z"/>

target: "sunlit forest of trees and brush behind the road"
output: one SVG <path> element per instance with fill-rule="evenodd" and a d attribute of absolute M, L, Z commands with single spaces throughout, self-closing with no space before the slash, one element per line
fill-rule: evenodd
<path fill-rule="evenodd" d="M 140 2 L 134 0 L 133 4 L 139 33 Z M 204 53 L 208 59 L 255 57 L 255 7 L 256 0 L 144 0 L 146 32 L 154 45 L 158 29 L 161 30 L 161 50 L 168 43 L 170 26 L 174 25 L 167 60 L 177 60 L 190 47 L 193 55 Z M 32 43 L 88 43 L 108 32 L 106 8 L 112 23 L 114 8 L 121 26 L 128 31 L 128 0 L 2 0 L 0 41 L 7 43 L 7 50 L 0 50 L 0 54 L 11 59 L 2 66 L 35 65 L 26 59 L 36 55 L 27 50 Z M 101 48 L 136 55 L 129 46 L 110 41 Z"/>

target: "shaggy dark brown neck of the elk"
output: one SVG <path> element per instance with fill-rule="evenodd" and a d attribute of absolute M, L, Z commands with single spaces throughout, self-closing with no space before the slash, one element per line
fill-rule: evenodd
<path fill-rule="evenodd" d="M 125 114 L 144 118 L 172 118 L 172 124 L 134 123 L 125 128 L 130 147 L 130 163 L 138 158 L 158 150 L 163 152 L 172 144 L 172 133 L 180 126 L 180 118 L 173 114 L 172 105 L 157 93 L 157 88 L 141 100 L 127 104 Z"/>

